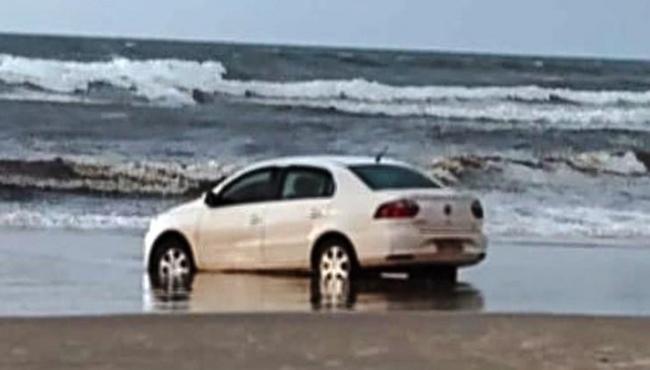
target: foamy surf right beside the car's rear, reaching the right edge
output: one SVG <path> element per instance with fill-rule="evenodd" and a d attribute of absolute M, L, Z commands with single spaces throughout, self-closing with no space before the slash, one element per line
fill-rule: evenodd
<path fill-rule="evenodd" d="M 459 155 L 436 158 L 430 170 L 479 194 L 491 236 L 650 237 L 649 153 Z"/>

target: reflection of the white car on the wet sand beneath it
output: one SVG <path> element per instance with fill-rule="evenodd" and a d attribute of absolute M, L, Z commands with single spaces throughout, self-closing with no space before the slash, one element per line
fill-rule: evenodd
<path fill-rule="evenodd" d="M 157 284 L 145 277 L 144 309 L 154 312 L 250 311 L 480 311 L 481 292 L 470 284 L 445 285 L 405 278 L 323 282 L 296 276 L 201 273 Z"/>

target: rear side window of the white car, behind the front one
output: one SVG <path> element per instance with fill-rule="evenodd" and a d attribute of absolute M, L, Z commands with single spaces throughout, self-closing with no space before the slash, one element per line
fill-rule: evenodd
<path fill-rule="evenodd" d="M 289 168 L 282 184 L 282 199 L 324 198 L 334 194 L 334 180 L 325 170 Z"/>

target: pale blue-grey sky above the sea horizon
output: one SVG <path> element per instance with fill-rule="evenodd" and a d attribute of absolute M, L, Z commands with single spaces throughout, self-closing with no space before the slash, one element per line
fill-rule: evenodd
<path fill-rule="evenodd" d="M 0 31 L 650 59 L 650 0 L 3 0 Z"/>

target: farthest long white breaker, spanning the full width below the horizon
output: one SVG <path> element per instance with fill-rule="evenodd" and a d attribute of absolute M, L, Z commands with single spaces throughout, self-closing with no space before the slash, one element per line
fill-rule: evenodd
<path fill-rule="evenodd" d="M 228 79 L 224 65 L 214 60 L 79 62 L 0 54 L 0 81 L 19 89 L 5 92 L 5 98 L 13 100 L 102 103 L 105 99 L 92 99 L 93 93 L 108 86 L 137 99 L 169 105 L 209 103 L 225 96 L 256 104 L 367 115 L 583 124 L 650 122 L 650 91 L 392 86 L 364 79 L 244 81 Z"/>

